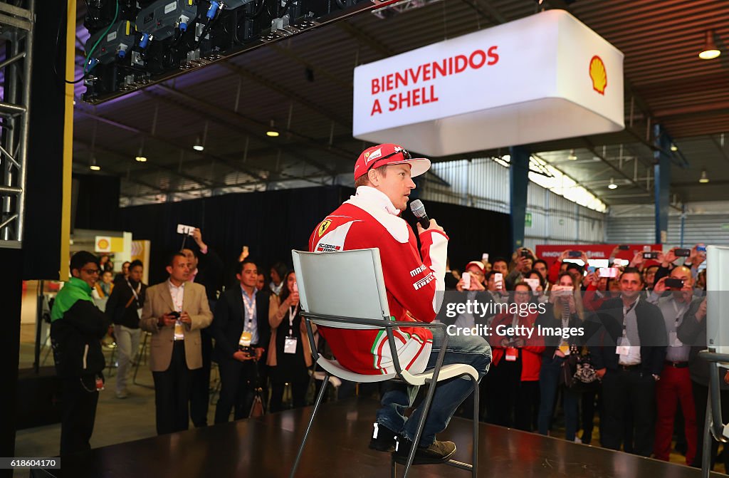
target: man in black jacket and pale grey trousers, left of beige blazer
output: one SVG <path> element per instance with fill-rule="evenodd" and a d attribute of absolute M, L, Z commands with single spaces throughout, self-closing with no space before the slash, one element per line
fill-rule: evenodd
<path fill-rule="evenodd" d="M 129 277 L 120 282 L 112 290 L 109 301 L 106 303 L 106 317 L 114 323 L 114 337 L 119 353 L 119 366 L 117 368 L 117 398 L 127 398 L 127 372 L 129 365 L 139 348 L 139 319 L 141 308 L 144 305 L 144 294 L 147 285 L 141 283 L 141 274 L 144 271 L 141 261 L 133 261 L 129 265 Z"/>

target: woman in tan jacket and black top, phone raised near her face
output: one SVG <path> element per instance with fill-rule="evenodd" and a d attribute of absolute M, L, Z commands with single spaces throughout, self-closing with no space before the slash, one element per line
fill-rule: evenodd
<path fill-rule="evenodd" d="M 279 296 L 271 294 L 268 311 L 271 338 L 266 365 L 270 367 L 270 411 L 280 412 L 283 409 L 281 400 L 286 383 L 291 384 L 293 408 L 305 406 L 311 347 L 306 325 L 301 319 L 295 272 L 289 271 L 285 275 Z"/>

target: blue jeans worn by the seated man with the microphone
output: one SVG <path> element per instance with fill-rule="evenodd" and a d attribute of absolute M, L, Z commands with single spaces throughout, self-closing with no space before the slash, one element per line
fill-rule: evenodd
<path fill-rule="evenodd" d="M 432 332 L 433 348 L 426 369 L 435 368 L 445 334 L 440 329 L 432 329 Z M 480 382 L 491 364 L 491 347 L 480 336 L 448 336 L 443 365 L 451 363 L 466 363 L 472 366 L 478 372 Z M 472 390 L 473 384 L 468 377 L 438 382 L 418 443 L 421 447 L 428 447 L 435 441 L 435 433 L 445 430 L 453 413 Z M 418 406 L 409 418 L 405 418 L 402 414 L 413 404 L 417 394 L 418 387 L 403 387 L 384 393 L 381 400 L 382 408 L 377 411 L 377 423 L 412 441 L 415 438 L 423 406 Z"/>

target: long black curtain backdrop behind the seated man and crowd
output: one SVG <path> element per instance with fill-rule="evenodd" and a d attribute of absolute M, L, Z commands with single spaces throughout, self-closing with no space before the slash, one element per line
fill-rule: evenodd
<path fill-rule="evenodd" d="M 169 253 L 182 246 L 177 224 L 197 226 L 203 241 L 219 253 L 228 278 L 243 245 L 268 276 L 270 265 L 292 264 L 291 250 L 306 250 L 309 236 L 322 219 L 354 193 L 341 186 L 228 194 L 210 198 L 122 208 L 117 229 L 134 239 L 149 239 L 149 282 L 165 280 Z M 509 253 L 509 216 L 500 212 L 426 201 L 429 217 L 443 225 L 451 238 L 448 255 L 453 269 L 463 269 L 481 253 L 491 257 Z M 415 228 L 415 218 L 403 217 Z M 188 238 L 186 244 L 194 244 Z"/>

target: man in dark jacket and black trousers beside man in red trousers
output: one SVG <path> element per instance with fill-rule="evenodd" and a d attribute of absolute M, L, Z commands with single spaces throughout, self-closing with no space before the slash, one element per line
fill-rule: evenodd
<path fill-rule="evenodd" d="M 620 274 L 620 297 L 605 301 L 597 312 L 600 347 L 592 355 L 602 378 L 606 448 L 620 449 L 625 412 L 633 411 L 634 452 L 650 456 L 655 431 L 655 382 L 666 358 L 666 325 L 658 307 L 641 297 L 643 277 L 628 267 Z"/>

